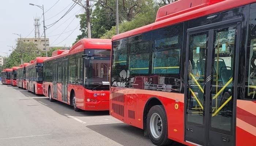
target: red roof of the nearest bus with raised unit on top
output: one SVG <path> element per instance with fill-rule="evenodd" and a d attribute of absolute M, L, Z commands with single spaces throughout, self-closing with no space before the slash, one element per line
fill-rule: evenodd
<path fill-rule="evenodd" d="M 173 15 L 172 12 L 175 11 L 176 8 L 173 8 L 174 10 L 171 10 L 170 14 L 166 11 L 167 9 L 170 9 L 170 7 L 173 5 L 176 5 L 176 7 L 181 7 L 181 4 L 184 3 L 184 1 L 186 1 L 187 3 L 190 4 L 190 0 L 179 0 L 181 1 L 180 3 L 171 3 L 169 5 L 163 6 L 161 8 L 159 8 L 160 10 L 158 10 L 158 15 L 157 15 L 157 20 L 155 23 L 152 24 L 148 24 L 146 26 L 143 27 L 139 27 L 136 28 L 134 30 L 130 30 L 127 32 L 123 32 L 121 34 L 118 35 L 114 35 L 112 38 L 112 41 L 118 40 L 118 39 L 122 39 L 122 38 L 126 38 L 126 37 L 130 37 L 133 35 L 138 35 L 144 32 L 148 32 L 151 30 L 155 30 L 157 28 L 162 28 L 162 27 L 166 27 L 166 26 L 170 26 L 173 24 L 177 24 L 180 22 L 185 22 L 187 20 L 191 20 L 191 19 L 195 19 L 195 18 L 199 18 L 202 16 L 206 16 L 206 15 L 210 15 L 210 14 L 214 14 L 220 11 L 225 11 L 226 9 L 232 9 L 232 8 L 236 8 L 239 7 L 241 5 L 246 5 L 249 3 L 254 2 L 255 0 L 202 0 L 202 5 L 203 6 L 198 6 L 198 7 L 193 7 L 190 11 L 180 11 L 178 14 Z M 208 1 L 208 2 L 207 2 Z M 207 4 L 204 4 L 206 3 Z M 182 9 L 181 9 L 182 10 Z M 167 15 L 166 17 L 163 16 L 163 12 L 166 11 Z M 179 10 L 178 10 L 179 11 Z"/>

